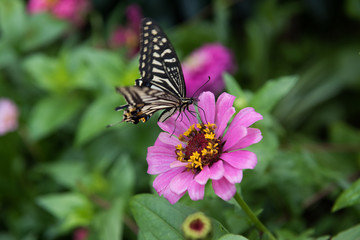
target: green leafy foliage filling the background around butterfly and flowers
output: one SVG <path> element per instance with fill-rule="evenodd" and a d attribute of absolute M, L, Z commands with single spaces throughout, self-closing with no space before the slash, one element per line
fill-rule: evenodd
<path fill-rule="evenodd" d="M 174 206 L 149 194 L 156 117 L 105 128 L 122 119 L 114 87 L 139 76 L 137 56 L 107 46 L 133 2 L 92 3 L 76 28 L 0 1 L 0 97 L 20 111 L 17 131 L 0 136 L 0 239 L 72 239 L 79 228 L 88 239 L 181 239 L 195 211 L 212 218 L 212 239 L 265 239 L 211 188 Z M 237 110 L 264 116 L 255 126 L 264 138 L 249 147 L 259 163 L 241 191 L 277 238 L 359 239 L 359 1 L 137 3 L 180 58 L 207 42 L 234 52 L 227 91 Z"/>

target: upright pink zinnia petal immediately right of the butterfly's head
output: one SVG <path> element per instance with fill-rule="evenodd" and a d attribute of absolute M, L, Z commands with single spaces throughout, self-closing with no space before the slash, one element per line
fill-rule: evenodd
<path fill-rule="evenodd" d="M 199 96 L 199 114 L 203 123 L 215 122 L 215 96 L 212 92 L 203 92 Z"/>

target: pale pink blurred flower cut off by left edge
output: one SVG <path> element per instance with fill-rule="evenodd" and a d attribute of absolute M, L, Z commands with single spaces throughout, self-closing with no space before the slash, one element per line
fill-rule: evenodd
<path fill-rule="evenodd" d="M 18 109 L 9 99 L 0 98 L 0 136 L 18 127 Z"/>

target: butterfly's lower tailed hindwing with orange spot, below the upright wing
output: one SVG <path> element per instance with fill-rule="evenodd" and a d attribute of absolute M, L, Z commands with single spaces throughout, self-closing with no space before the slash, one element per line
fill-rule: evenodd
<path fill-rule="evenodd" d="M 165 110 L 159 117 L 159 121 L 164 122 L 181 106 L 181 101 L 174 95 L 146 86 L 118 87 L 116 90 L 128 103 L 115 109 L 124 109 L 125 122 L 146 122 L 155 112 Z"/>

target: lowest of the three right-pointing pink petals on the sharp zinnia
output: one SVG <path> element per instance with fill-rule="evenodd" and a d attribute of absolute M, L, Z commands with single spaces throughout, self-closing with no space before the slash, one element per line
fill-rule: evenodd
<path fill-rule="evenodd" d="M 256 166 L 256 154 L 247 150 L 223 153 L 220 158 L 237 169 L 253 169 Z"/>

